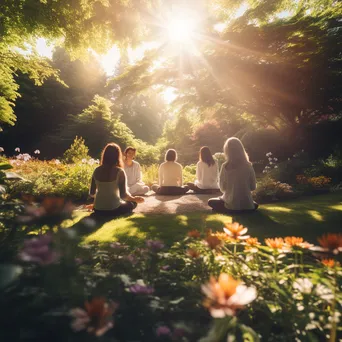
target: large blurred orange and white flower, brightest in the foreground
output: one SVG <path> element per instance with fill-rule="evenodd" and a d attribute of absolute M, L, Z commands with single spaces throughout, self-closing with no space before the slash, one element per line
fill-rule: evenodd
<path fill-rule="evenodd" d="M 254 287 L 241 285 L 239 281 L 225 273 L 221 273 L 218 280 L 211 277 L 207 284 L 202 285 L 202 292 L 207 296 L 203 305 L 215 318 L 233 316 L 236 310 L 243 308 L 257 297 Z"/>

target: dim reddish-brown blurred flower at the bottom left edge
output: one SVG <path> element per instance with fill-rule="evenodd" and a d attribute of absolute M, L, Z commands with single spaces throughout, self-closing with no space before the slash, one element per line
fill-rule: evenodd
<path fill-rule="evenodd" d="M 84 309 L 75 308 L 70 311 L 74 318 L 71 328 L 74 331 L 87 330 L 95 336 L 102 336 L 113 327 L 113 313 L 118 307 L 117 303 L 106 303 L 104 298 L 93 298 L 84 303 Z"/>

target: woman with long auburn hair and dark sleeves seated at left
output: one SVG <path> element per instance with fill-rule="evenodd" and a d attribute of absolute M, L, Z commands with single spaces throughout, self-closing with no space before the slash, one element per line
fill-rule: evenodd
<path fill-rule="evenodd" d="M 131 196 L 126 189 L 120 146 L 107 144 L 102 151 L 101 165 L 93 173 L 89 195 L 94 198 L 95 214 L 119 216 L 131 213 L 143 197 Z"/>

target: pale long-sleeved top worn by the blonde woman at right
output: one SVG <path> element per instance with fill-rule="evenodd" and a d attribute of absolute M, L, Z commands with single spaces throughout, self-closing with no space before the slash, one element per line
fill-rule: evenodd
<path fill-rule="evenodd" d="M 236 169 L 226 169 L 223 163 L 219 176 L 219 185 L 223 193 L 222 200 L 227 209 L 254 209 L 251 191 L 256 189 L 255 172 L 251 164 L 241 165 Z"/>

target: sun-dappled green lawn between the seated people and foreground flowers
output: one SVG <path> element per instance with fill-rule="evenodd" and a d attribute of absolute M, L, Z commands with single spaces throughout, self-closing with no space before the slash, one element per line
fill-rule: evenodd
<path fill-rule="evenodd" d="M 87 216 L 89 214 L 85 212 L 76 213 L 76 226 Z M 342 231 L 342 193 L 261 205 L 257 212 L 245 215 L 226 216 L 203 212 L 187 215 L 133 214 L 120 219 L 96 222 L 96 226 L 91 229 L 79 226 L 79 232 L 84 235 L 85 242 L 116 240 L 139 245 L 144 243 L 146 238 L 157 238 L 171 245 L 181 239 L 188 230 L 221 230 L 224 222 L 232 221 L 248 227 L 249 234 L 260 240 L 266 237 L 295 235 L 310 242 L 317 242 L 316 237 L 323 233 Z"/>

